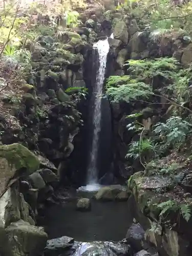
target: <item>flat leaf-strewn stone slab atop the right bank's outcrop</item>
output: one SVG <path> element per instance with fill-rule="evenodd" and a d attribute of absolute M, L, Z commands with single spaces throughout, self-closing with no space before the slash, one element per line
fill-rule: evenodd
<path fill-rule="evenodd" d="M 164 176 L 151 176 L 142 177 L 136 180 L 139 188 L 143 189 L 156 189 L 156 188 L 166 188 L 173 184 L 173 180 L 169 177 Z"/>

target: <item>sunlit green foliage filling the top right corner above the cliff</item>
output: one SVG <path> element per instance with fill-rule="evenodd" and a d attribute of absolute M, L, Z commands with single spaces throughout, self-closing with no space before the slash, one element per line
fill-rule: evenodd
<path fill-rule="evenodd" d="M 178 29 L 191 32 L 192 3 L 190 1 L 125 0 L 118 5 L 117 11 L 135 17 L 141 29 L 148 26 L 154 31 L 154 37 L 159 33 Z"/>

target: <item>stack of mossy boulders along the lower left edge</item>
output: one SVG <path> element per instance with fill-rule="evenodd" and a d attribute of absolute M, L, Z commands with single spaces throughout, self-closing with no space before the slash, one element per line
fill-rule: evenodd
<path fill-rule="evenodd" d="M 39 160 L 18 143 L 2 145 L 0 152 L 0 253 L 38 255 L 45 248 L 47 234 L 34 226 L 34 215 L 20 191 L 19 180 L 33 175 L 39 168 Z"/>

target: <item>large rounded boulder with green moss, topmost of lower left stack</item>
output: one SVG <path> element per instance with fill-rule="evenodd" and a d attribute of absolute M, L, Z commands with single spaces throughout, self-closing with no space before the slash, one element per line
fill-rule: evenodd
<path fill-rule="evenodd" d="M 39 168 L 38 158 L 19 143 L 0 146 L 0 196 L 12 177 L 28 176 Z"/>

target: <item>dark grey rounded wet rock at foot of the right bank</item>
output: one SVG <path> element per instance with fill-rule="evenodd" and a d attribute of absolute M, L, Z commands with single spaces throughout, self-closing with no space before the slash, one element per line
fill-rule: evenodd
<path fill-rule="evenodd" d="M 132 224 L 127 230 L 126 240 L 135 251 L 142 250 L 142 240 L 144 239 L 144 234 L 145 231 L 139 223 Z"/>

